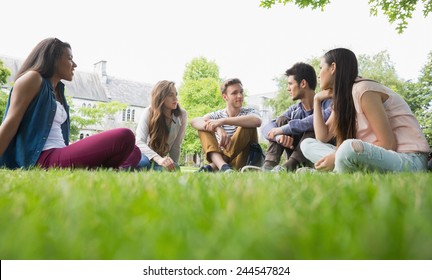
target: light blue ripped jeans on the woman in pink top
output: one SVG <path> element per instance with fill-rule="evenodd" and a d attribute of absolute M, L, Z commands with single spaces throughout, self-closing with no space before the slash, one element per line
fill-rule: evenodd
<path fill-rule="evenodd" d="M 358 140 L 345 140 L 338 149 L 319 140 L 303 140 L 304 156 L 316 163 L 322 157 L 336 153 L 334 172 L 404 172 L 427 171 L 426 153 L 398 153 Z"/>

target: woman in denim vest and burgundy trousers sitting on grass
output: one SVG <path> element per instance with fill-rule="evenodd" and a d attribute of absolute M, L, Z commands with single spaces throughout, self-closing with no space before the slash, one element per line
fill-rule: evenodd
<path fill-rule="evenodd" d="M 69 145 L 69 106 L 61 80 L 77 67 L 68 43 L 42 40 L 16 75 L 0 126 L 0 167 L 130 168 L 140 160 L 133 132 L 118 128 Z"/>

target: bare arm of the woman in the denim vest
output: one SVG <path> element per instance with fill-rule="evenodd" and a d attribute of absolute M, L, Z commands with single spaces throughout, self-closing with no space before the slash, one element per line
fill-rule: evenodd
<path fill-rule="evenodd" d="M 42 77 L 35 71 L 27 72 L 15 82 L 8 113 L 0 126 L 0 155 L 3 155 L 17 133 L 22 118 L 38 94 L 41 84 Z"/>

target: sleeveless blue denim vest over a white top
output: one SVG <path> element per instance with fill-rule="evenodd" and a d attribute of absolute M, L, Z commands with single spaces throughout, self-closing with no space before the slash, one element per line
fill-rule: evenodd
<path fill-rule="evenodd" d="M 69 145 L 69 106 L 64 95 L 64 84 L 59 82 L 57 88 L 67 113 L 67 120 L 61 125 L 63 139 L 65 144 Z M 12 94 L 13 88 L 9 94 L 3 120 L 7 118 Z M 29 168 L 36 164 L 51 130 L 56 109 L 52 84 L 49 79 L 44 78 L 40 91 L 27 108 L 17 133 L 0 157 L 0 167 Z"/>

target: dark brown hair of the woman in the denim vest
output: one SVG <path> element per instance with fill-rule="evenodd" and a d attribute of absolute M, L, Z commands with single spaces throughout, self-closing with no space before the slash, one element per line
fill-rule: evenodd
<path fill-rule="evenodd" d="M 55 63 L 62 56 L 65 48 L 71 48 L 68 43 L 57 38 L 47 38 L 39 42 L 18 70 L 15 80 L 29 70 L 37 71 L 44 78 L 54 75 Z"/>

